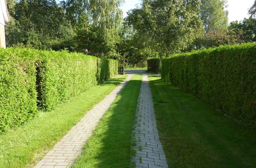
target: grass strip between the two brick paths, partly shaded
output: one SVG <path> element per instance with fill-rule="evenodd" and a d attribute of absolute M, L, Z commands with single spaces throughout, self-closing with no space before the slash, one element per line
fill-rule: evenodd
<path fill-rule="evenodd" d="M 133 76 L 88 139 L 74 167 L 131 167 L 141 75 Z"/>

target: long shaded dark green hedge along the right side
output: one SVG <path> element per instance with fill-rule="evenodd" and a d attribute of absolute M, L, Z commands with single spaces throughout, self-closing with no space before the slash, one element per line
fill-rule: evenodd
<path fill-rule="evenodd" d="M 172 55 L 162 77 L 217 109 L 256 128 L 256 43 Z"/>

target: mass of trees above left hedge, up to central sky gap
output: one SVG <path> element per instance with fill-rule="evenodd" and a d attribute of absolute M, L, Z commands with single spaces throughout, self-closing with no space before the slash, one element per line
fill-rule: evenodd
<path fill-rule="evenodd" d="M 7 45 L 118 58 L 121 0 L 8 0 Z M 59 2 L 59 4 L 57 4 Z"/>

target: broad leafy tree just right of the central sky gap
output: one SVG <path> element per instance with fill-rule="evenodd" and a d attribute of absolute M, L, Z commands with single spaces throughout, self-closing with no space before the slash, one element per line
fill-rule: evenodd
<path fill-rule="evenodd" d="M 201 34 L 200 2 L 195 0 L 143 1 L 129 12 L 127 21 L 139 34 L 153 41 L 163 55 L 180 52 Z"/>

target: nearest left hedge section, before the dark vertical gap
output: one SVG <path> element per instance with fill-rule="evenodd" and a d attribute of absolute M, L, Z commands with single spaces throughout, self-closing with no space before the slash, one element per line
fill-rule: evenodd
<path fill-rule="evenodd" d="M 0 48 L 0 132 L 25 123 L 37 112 L 37 56 L 29 49 Z"/>

